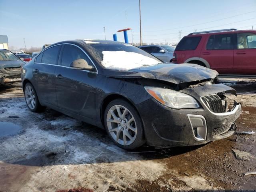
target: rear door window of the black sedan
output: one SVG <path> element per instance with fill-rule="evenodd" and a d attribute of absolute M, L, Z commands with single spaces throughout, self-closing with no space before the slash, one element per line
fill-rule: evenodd
<path fill-rule="evenodd" d="M 59 50 L 60 50 L 60 45 L 54 46 L 45 50 L 44 55 L 42 57 L 42 63 L 57 64 Z"/>

